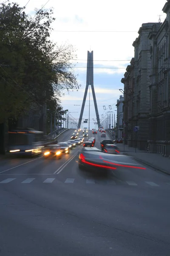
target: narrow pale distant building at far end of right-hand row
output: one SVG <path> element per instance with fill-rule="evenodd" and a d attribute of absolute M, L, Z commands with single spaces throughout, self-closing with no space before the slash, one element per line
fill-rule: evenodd
<path fill-rule="evenodd" d="M 123 101 L 124 97 L 120 95 L 119 99 L 117 99 L 117 139 L 123 137 Z"/>

